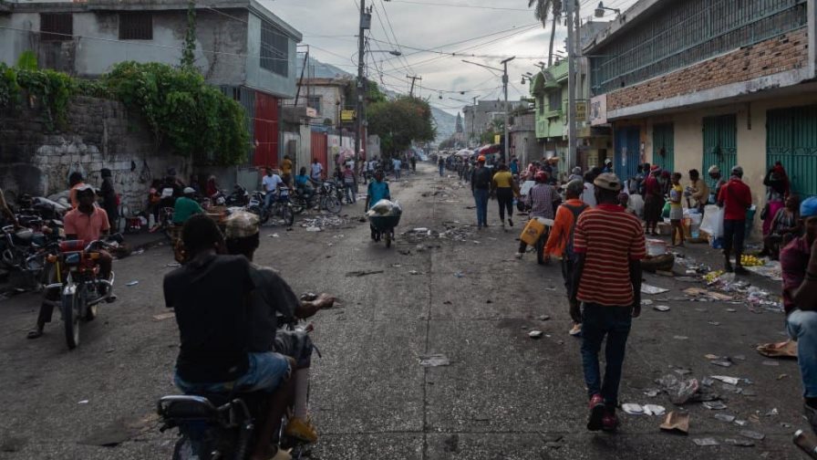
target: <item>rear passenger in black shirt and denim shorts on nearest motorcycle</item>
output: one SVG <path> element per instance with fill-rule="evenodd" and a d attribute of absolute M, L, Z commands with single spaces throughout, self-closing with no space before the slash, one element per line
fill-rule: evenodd
<path fill-rule="evenodd" d="M 188 394 L 266 392 L 253 460 L 276 454 L 274 442 L 292 394 L 291 360 L 249 350 L 253 329 L 248 294 L 257 288 L 244 256 L 223 254 L 215 221 L 193 215 L 181 230 L 186 263 L 164 277 L 165 305 L 176 313 L 181 346 L 174 382 Z"/>

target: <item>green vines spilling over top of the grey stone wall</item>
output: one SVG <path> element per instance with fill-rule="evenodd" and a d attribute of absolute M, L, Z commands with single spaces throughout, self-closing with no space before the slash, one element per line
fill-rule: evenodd
<path fill-rule="evenodd" d="M 36 57 L 21 57 L 10 68 L 0 63 L 0 107 L 16 108 L 23 97 L 41 103 L 47 128 L 67 129 L 67 107 L 75 96 L 118 99 L 148 122 L 159 143 L 191 155 L 200 164 L 243 162 L 250 136 L 242 106 L 204 82 L 194 68 L 122 62 L 98 81 L 78 80 L 36 68 Z"/>

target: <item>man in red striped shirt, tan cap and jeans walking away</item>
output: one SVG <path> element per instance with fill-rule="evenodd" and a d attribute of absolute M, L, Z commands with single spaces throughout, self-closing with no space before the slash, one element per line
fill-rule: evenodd
<path fill-rule="evenodd" d="M 638 218 L 617 204 L 621 182 L 613 173 L 595 178 L 598 206 L 579 216 L 574 230 L 571 308 L 582 302 L 582 364 L 590 397 L 587 429 L 614 431 L 615 406 L 632 319 L 641 314 L 641 259 L 646 256 Z M 572 311 L 572 313 L 575 313 Z M 606 336 L 602 380 L 598 354 Z"/>

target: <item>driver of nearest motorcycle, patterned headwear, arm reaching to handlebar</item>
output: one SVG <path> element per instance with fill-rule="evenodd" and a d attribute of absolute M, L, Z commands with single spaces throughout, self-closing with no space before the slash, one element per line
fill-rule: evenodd
<path fill-rule="evenodd" d="M 295 360 L 295 406 L 284 433 L 308 443 L 317 441 L 315 427 L 306 413 L 312 340 L 303 330 L 279 329 L 284 320 L 307 319 L 318 310 L 332 308 L 335 298 L 321 294 L 313 300 L 299 300 L 292 288 L 273 268 L 253 264 L 260 244 L 258 216 L 239 211 L 225 221 L 227 251 L 245 256 L 251 262 L 255 290 L 251 294 L 249 349 L 251 352 L 274 350 Z"/>

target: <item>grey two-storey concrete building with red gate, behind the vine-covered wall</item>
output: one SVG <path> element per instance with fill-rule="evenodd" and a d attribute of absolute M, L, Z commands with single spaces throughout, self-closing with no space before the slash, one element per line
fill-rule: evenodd
<path fill-rule="evenodd" d="M 301 34 L 256 0 L 200 1 L 195 8 L 195 65 L 251 120 L 247 166 L 277 164 L 283 155 L 281 100 L 295 97 Z M 11 0 L 0 10 L 0 61 L 13 65 L 32 50 L 40 67 L 80 78 L 128 60 L 178 65 L 187 9 L 184 0 Z"/>

